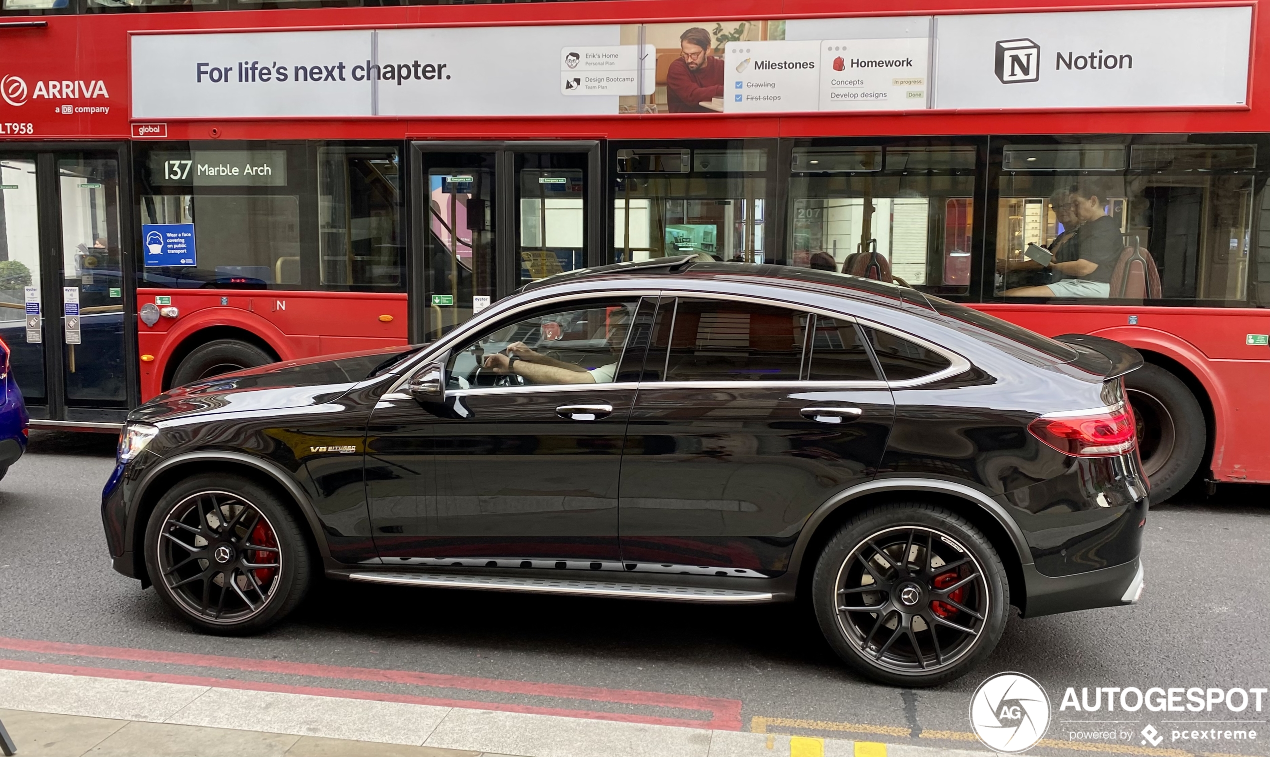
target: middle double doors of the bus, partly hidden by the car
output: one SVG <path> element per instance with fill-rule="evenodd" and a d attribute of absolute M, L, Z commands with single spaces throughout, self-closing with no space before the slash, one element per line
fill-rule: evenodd
<path fill-rule="evenodd" d="M 602 263 L 599 142 L 415 142 L 410 335 Z"/>

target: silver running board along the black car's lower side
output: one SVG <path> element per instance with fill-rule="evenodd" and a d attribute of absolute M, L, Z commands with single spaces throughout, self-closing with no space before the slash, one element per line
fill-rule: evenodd
<path fill-rule="evenodd" d="M 715 589 L 652 583 L 578 580 L 568 578 L 507 578 L 500 575 L 444 575 L 438 573 L 351 573 L 351 580 L 422 586 L 447 589 L 485 589 L 493 592 L 531 592 L 540 594 L 585 594 L 630 600 L 673 600 L 681 602 L 771 602 L 771 592 Z"/>

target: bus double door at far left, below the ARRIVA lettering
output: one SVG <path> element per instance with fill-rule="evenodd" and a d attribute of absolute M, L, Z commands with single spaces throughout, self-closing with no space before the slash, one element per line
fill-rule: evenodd
<path fill-rule="evenodd" d="M 136 396 L 123 147 L 0 146 L 0 338 L 32 425 L 107 431 Z"/>

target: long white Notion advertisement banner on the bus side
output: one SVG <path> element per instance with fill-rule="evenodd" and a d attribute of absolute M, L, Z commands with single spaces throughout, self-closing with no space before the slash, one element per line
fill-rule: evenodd
<path fill-rule="evenodd" d="M 1251 24 L 1208 6 L 145 33 L 132 118 L 1246 107 Z"/>

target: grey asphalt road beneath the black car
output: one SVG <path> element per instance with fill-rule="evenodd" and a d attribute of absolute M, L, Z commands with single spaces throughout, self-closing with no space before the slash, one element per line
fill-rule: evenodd
<path fill-rule="evenodd" d="M 99 497 L 113 466 L 113 437 L 32 436 L 30 452 L 0 481 L 3 659 L 653 719 L 709 718 L 709 702 L 739 700 L 747 730 L 970 748 L 977 744 L 964 734 L 974 687 L 992 673 L 1019 671 L 1049 692 L 1049 738 L 1058 742 L 1071 730 L 1115 727 L 1133 732 L 1116 747 L 1121 753 L 1160 753 L 1140 746 L 1138 730 L 1148 723 L 1167 737 L 1170 729 L 1240 720 L 1262 732 L 1259 740 L 1166 739 L 1160 748 L 1270 753 L 1270 695 L 1261 713 L 1251 706 L 1236 714 L 1058 710 L 1067 687 L 1090 687 L 1092 696 L 1097 686 L 1270 685 L 1270 488 L 1222 486 L 1206 499 L 1191 495 L 1154 508 L 1140 605 L 1013 617 L 978 671 L 941 688 L 906 691 L 848 673 L 799 605 L 706 607 L 326 583 L 268 634 L 196 634 L 154 591 L 109 566 Z M 591 695 L 556 685 L 683 696 Z M 685 697 L 712 699 L 696 705 Z M 1124 723 L 1093 725 L 1110 720 Z M 1173 723 L 1181 720 L 1198 723 Z M 1088 753 L 1091 744 L 1083 746 Z M 1038 753 L 1073 752 L 1055 742 Z"/>

